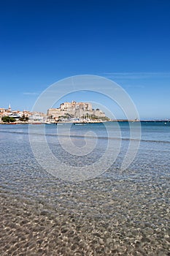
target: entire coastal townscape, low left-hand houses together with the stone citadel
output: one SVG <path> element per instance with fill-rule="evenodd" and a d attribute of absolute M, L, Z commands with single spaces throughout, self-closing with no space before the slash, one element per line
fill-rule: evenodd
<path fill-rule="evenodd" d="M 55 123 L 58 121 L 75 121 L 75 120 L 100 120 L 106 118 L 105 113 L 92 108 L 88 102 L 64 102 L 60 108 L 50 108 L 47 114 L 40 112 L 30 112 L 28 110 L 12 110 L 9 108 L 0 108 L 0 122 L 3 123 L 3 117 L 15 118 L 16 122 L 28 123 Z"/>

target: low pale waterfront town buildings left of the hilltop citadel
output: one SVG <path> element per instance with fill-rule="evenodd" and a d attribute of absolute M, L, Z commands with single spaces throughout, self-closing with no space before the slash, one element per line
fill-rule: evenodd
<path fill-rule="evenodd" d="M 45 122 L 46 115 L 39 112 L 30 112 L 28 110 L 12 110 L 10 105 L 9 108 L 0 108 L 0 122 L 4 116 L 15 118 L 15 121 L 28 121 L 28 122 Z"/>

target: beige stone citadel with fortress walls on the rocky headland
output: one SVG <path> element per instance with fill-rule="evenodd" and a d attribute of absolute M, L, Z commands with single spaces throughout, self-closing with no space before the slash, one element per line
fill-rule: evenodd
<path fill-rule="evenodd" d="M 64 102 L 60 108 L 50 108 L 47 110 L 47 121 L 55 122 L 71 118 L 105 118 L 105 113 L 92 108 L 88 102 Z"/>

